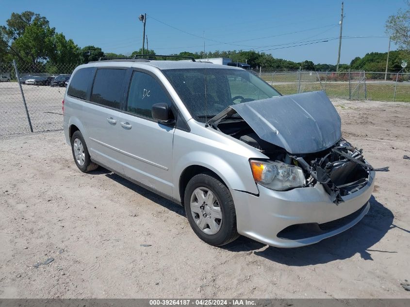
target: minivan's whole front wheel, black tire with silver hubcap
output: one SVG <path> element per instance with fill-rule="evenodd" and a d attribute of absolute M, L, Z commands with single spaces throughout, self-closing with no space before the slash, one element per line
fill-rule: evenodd
<path fill-rule="evenodd" d="M 213 174 L 198 174 L 188 182 L 184 206 L 189 224 L 202 241 L 221 246 L 239 237 L 230 191 Z"/>

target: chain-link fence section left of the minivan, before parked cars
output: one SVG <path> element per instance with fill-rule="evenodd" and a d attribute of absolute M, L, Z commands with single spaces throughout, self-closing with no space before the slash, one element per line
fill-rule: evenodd
<path fill-rule="evenodd" d="M 0 63 L 0 135 L 63 129 L 65 81 L 76 66 Z"/>

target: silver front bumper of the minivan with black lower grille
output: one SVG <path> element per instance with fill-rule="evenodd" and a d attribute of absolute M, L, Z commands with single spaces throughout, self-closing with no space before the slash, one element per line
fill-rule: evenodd
<path fill-rule="evenodd" d="M 343 196 L 344 202 L 338 205 L 331 201 L 321 184 L 282 192 L 258 185 L 259 196 L 233 190 L 231 193 L 235 203 L 238 233 L 277 247 L 299 247 L 334 236 L 357 224 L 368 212 L 374 178 L 375 172 L 370 172 L 367 185 L 355 193 Z M 352 218 L 342 219 L 347 216 Z M 335 220 L 344 223 L 335 223 L 327 231 L 317 232 L 312 236 L 306 232 L 307 237 L 299 235 L 295 240 L 278 236 L 279 232 L 289 229 L 289 226 L 321 225 Z"/>

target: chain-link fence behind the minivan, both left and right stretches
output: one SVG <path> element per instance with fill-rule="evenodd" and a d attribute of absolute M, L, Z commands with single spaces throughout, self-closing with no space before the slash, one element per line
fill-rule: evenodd
<path fill-rule="evenodd" d="M 0 63 L 0 135 L 62 129 L 65 81 L 76 66 Z M 252 72 L 283 95 L 322 90 L 333 99 L 410 102 L 408 73 L 263 68 Z"/>

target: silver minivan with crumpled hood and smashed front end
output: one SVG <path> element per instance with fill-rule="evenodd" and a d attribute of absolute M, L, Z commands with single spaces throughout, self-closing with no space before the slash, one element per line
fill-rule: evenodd
<path fill-rule="evenodd" d="M 185 207 L 203 241 L 319 242 L 370 208 L 375 169 L 324 92 L 282 96 L 241 68 L 122 59 L 78 66 L 64 131 L 99 165 Z"/>

